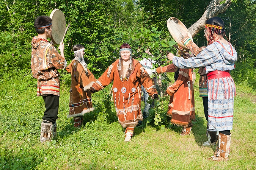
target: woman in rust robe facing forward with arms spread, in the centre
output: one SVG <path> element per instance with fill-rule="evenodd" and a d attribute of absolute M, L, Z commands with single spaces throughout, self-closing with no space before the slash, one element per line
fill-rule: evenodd
<path fill-rule="evenodd" d="M 140 62 L 131 57 L 129 44 L 120 47 L 120 58 L 113 62 L 90 88 L 92 92 L 104 89 L 113 81 L 113 99 L 119 123 L 126 128 L 125 141 L 130 142 L 133 129 L 143 120 L 141 114 L 141 84 L 152 98 L 157 98 L 154 83 Z"/>

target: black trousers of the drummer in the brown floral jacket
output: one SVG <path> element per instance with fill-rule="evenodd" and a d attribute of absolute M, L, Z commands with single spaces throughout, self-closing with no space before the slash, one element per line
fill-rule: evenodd
<path fill-rule="evenodd" d="M 58 119 L 58 110 L 60 97 L 56 95 L 43 96 L 46 111 L 44 111 L 44 117 L 42 117 L 44 123 L 54 123 Z M 47 122 L 48 121 L 48 122 Z"/>

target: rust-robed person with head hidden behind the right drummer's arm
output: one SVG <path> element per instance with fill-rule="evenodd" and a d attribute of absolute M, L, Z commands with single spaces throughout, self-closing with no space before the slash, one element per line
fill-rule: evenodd
<path fill-rule="evenodd" d="M 170 64 L 158 67 L 157 73 L 177 72 L 177 67 Z M 166 93 L 170 95 L 167 115 L 171 117 L 171 123 L 182 126 L 181 135 L 189 135 L 195 119 L 195 99 L 193 81 L 193 69 L 179 69 L 177 80 L 167 87 Z"/>

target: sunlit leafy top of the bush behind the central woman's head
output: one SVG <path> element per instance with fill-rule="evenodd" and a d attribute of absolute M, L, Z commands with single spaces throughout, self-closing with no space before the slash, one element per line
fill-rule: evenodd
<path fill-rule="evenodd" d="M 114 36 L 115 42 L 123 44 L 128 43 L 133 50 L 134 58 L 151 58 L 156 61 L 155 67 L 165 64 L 168 59 L 166 58 L 166 51 L 173 51 L 172 45 L 176 44 L 170 35 L 166 35 L 163 31 L 158 31 L 158 28 L 129 28 L 127 31 L 120 32 Z M 152 56 L 145 53 L 149 48 Z"/>

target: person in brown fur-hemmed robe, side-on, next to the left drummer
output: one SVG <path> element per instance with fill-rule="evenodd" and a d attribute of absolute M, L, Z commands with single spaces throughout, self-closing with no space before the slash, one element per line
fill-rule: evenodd
<path fill-rule="evenodd" d="M 75 58 L 66 70 L 71 73 L 71 88 L 69 99 L 69 117 L 74 117 L 74 126 L 82 125 L 83 115 L 93 111 L 90 87 L 96 81 L 93 73 L 86 67 L 83 59 L 85 48 L 77 44 L 73 47 Z"/>

